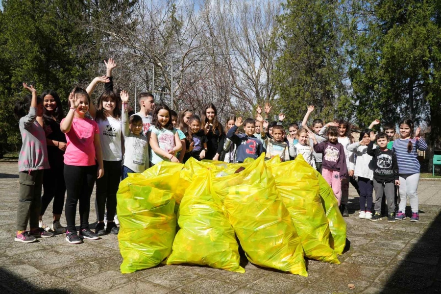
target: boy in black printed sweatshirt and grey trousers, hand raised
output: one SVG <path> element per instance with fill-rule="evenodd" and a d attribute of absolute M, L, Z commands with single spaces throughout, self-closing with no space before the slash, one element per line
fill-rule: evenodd
<path fill-rule="evenodd" d="M 373 149 L 373 142 L 377 140 L 378 148 Z M 381 132 L 375 136 L 370 132 L 370 142 L 367 153 L 373 157 L 373 186 L 375 189 L 375 215 L 371 221 L 381 220 L 381 200 L 383 193 L 386 195 L 388 203 L 388 222 L 395 222 L 395 204 L 393 190 L 395 185 L 399 185 L 398 164 L 396 155 L 388 149 L 388 135 Z"/>

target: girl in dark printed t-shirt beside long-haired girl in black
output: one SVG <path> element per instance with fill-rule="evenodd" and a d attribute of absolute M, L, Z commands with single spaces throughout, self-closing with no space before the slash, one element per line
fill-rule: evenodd
<path fill-rule="evenodd" d="M 200 129 L 200 123 L 200 118 L 196 115 L 188 121 L 187 141 L 190 144 L 184 161 L 187 161 L 190 157 L 199 161 L 205 158 L 208 139 L 204 131 Z"/>

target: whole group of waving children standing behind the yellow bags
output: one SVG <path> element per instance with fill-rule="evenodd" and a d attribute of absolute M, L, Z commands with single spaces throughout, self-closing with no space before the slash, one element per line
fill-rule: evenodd
<path fill-rule="evenodd" d="M 212 103 L 204 105 L 200 117 L 189 109 L 177 114 L 165 104 L 155 105 L 153 95 L 142 92 L 138 97 L 140 111 L 130 113 L 128 93 L 113 89 L 115 61 L 109 59 L 105 64 L 106 75 L 96 77 L 86 89 L 73 89 L 67 113 L 55 91 L 45 91 L 39 98 L 32 86 L 24 84 L 31 94 L 15 106 L 23 141 L 15 241 L 30 243 L 36 241 L 35 237 L 65 233 L 67 242 L 79 244 L 82 239 L 118 234 L 116 194 L 120 180 L 128 173 L 144 172 L 164 160 L 185 163 L 190 157 L 241 163 L 262 152 L 266 159 L 278 156 L 282 161 L 302 154 L 331 185 L 343 216 L 348 216 L 351 182 L 360 195 L 360 218 L 380 220 L 384 194 L 389 221 L 406 218 L 407 196 L 412 207 L 411 221 L 419 220 L 417 149 L 424 150 L 427 145 L 419 137 L 419 128 L 413 136 L 414 124 L 410 120 L 399 123 L 401 138 L 392 144 L 395 125 L 385 125 L 387 134 L 375 136 L 371 128 L 379 121 L 364 130 L 357 143 L 352 142 L 349 123 L 344 121 L 323 125 L 316 119 L 312 132 L 307 122 L 314 106 L 308 107 L 302 127 L 293 123 L 289 132 L 282 126 L 283 113 L 278 122 L 269 122 L 269 103 L 264 109 L 257 107 L 255 119 L 230 116 L 222 126 Z M 98 83 L 104 83 L 105 90 L 95 106 L 90 96 Z M 239 132 L 242 126 L 244 133 Z M 94 184 L 98 221 L 95 232 L 89 228 Z M 395 216 L 394 193 L 398 185 L 401 202 L 398 201 Z M 42 218 L 52 199 L 53 222 L 46 226 Z M 66 227 L 60 224 L 64 203 Z M 79 232 L 75 226 L 77 205 Z"/>

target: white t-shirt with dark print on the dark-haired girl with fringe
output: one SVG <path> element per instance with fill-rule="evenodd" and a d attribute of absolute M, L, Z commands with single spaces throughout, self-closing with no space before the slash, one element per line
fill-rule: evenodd
<path fill-rule="evenodd" d="M 121 119 L 107 117 L 104 121 L 97 120 L 99 129 L 99 141 L 101 142 L 102 160 L 123 160 L 121 147 L 121 135 L 123 123 Z"/>

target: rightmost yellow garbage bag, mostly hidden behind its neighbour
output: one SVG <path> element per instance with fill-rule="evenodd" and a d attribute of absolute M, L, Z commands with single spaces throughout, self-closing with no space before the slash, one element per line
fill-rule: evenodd
<path fill-rule="evenodd" d="M 339 209 L 339 202 L 331 186 L 329 186 L 319 172 L 315 171 L 315 173 L 319 180 L 319 195 L 323 200 L 322 203 L 329 222 L 329 229 L 331 230 L 329 243 L 334 248 L 335 253 L 342 254 L 346 245 L 346 222 L 343 220 Z"/>

